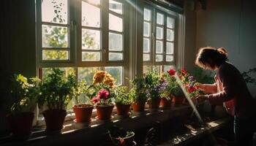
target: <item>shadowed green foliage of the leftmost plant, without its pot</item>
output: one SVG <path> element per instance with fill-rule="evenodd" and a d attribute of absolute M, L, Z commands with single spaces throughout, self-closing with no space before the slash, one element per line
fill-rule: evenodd
<path fill-rule="evenodd" d="M 10 85 L 10 96 L 12 97 L 10 112 L 12 114 L 29 112 L 34 108 L 34 97 L 39 93 L 37 88 L 39 79 L 31 78 L 30 81 L 31 83 L 22 74 L 14 74 L 12 76 Z"/>

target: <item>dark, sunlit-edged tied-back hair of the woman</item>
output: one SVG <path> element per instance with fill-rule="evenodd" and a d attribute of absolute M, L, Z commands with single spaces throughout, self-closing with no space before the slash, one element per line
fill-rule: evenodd
<path fill-rule="evenodd" d="M 219 67 L 227 61 L 227 50 L 224 47 L 201 47 L 197 53 L 195 64 L 202 68 L 209 64 L 212 68 Z"/>

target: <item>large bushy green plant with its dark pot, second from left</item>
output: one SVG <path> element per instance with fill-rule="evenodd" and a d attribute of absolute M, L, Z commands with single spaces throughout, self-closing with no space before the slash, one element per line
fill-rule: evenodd
<path fill-rule="evenodd" d="M 61 69 L 51 69 L 51 72 L 39 82 L 39 107 L 46 106 L 48 110 L 42 112 L 45 118 L 46 131 L 60 132 L 64 118 L 67 115 L 67 104 L 74 96 L 76 80 L 74 74 L 65 76 Z"/>

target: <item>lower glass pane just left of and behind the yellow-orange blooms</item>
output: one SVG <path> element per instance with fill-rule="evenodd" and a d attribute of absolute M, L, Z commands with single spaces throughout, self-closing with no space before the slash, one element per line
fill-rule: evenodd
<path fill-rule="evenodd" d="M 99 67 L 78 67 L 78 80 L 86 80 L 86 84 L 91 85 L 97 70 Z"/>

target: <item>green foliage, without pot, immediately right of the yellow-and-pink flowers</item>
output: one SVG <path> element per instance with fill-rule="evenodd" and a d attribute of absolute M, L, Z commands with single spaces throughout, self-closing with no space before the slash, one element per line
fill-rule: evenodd
<path fill-rule="evenodd" d="M 115 102 L 116 104 L 131 104 L 132 98 L 127 93 L 127 87 L 126 86 L 118 86 L 115 88 L 116 91 L 116 98 Z"/>

